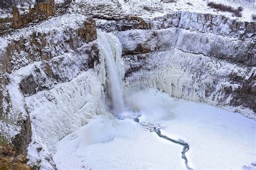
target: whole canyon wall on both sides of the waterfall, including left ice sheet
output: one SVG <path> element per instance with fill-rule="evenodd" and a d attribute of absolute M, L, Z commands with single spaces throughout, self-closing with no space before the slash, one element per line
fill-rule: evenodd
<path fill-rule="evenodd" d="M 103 112 L 96 27 L 122 44 L 127 94 L 153 87 L 256 119 L 255 23 L 189 11 L 101 15 L 109 9 L 93 8 L 99 11 L 0 37 L 0 138 L 19 153 L 28 149 L 30 164 L 55 168 L 57 141 Z"/>

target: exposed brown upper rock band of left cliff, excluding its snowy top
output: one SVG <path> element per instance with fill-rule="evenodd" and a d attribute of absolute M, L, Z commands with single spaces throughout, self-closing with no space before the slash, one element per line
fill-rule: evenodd
<path fill-rule="evenodd" d="M 64 39 L 59 39 L 57 42 L 55 34 L 58 34 L 58 31 L 35 32 L 28 37 L 12 40 L 6 47 L 6 51 L 2 52 L 2 58 L 0 57 L 0 60 L 2 60 L 0 62 L 3 63 L 3 68 L 0 65 L 0 70 L 11 73 L 12 70 L 24 67 L 29 62 L 50 60 L 54 56 L 63 54 L 63 52 L 69 52 L 70 49 L 76 51 L 82 45 L 82 42 L 97 39 L 96 23 L 95 20 L 89 18 L 85 20 L 84 26 L 78 29 L 66 27 L 63 32 L 60 32 Z"/>

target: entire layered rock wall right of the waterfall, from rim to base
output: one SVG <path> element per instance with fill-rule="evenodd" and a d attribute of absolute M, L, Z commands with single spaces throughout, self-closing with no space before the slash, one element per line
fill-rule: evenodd
<path fill-rule="evenodd" d="M 256 118 L 255 22 L 188 11 L 97 22 L 122 43 L 127 91 L 163 89 Z"/>

